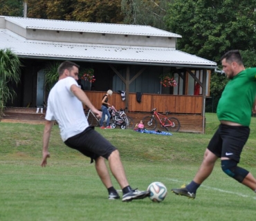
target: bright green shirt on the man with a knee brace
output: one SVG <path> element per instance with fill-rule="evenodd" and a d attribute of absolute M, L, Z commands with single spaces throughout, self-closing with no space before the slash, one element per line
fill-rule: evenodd
<path fill-rule="evenodd" d="M 217 106 L 219 120 L 250 126 L 255 96 L 256 68 L 248 68 L 228 81 Z"/>

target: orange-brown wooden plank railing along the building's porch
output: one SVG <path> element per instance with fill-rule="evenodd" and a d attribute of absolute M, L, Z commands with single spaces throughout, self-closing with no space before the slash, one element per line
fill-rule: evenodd
<path fill-rule="evenodd" d="M 100 110 L 104 92 L 88 90 L 85 93 L 93 105 Z M 136 93 L 129 93 L 128 96 L 129 112 L 150 112 L 152 108 L 157 108 L 161 113 L 165 111 L 183 114 L 202 113 L 202 96 L 143 94 L 140 103 L 136 100 Z M 125 101 L 122 101 L 120 93 L 113 93 L 109 97 L 109 104 L 116 109 L 125 108 Z"/>

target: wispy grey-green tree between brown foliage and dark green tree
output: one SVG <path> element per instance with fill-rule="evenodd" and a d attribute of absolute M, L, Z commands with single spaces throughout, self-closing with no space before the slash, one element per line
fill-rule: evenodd
<path fill-rule="evenodd" d="M 125 23 L 166 29 L 163 18 L 171 0 L 122 0 Z"/>

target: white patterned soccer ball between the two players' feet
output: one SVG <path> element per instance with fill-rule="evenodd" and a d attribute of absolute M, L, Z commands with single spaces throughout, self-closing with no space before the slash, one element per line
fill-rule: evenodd
<path fill-rule="evenodd" d="M 149 199 L 153 202 L 161 202 L 165 200 L 167 194 L 166 186 L 161 182 L 152 182 L 147 187 L 147 191 L 150 192 Z"/>

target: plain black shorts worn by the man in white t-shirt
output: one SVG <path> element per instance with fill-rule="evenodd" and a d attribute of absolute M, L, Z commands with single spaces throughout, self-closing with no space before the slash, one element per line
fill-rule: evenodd
<path fill-rule="evenodd" d="M 90 157 L 91 163 L 100 156 L 108 159 L 109 155 L 116 151 L 116 147 L 102 137 L 100 133 L 94 131 L 93 126 L 89 126 L 82 133 L 69 137 L 64 144 Z"/>

